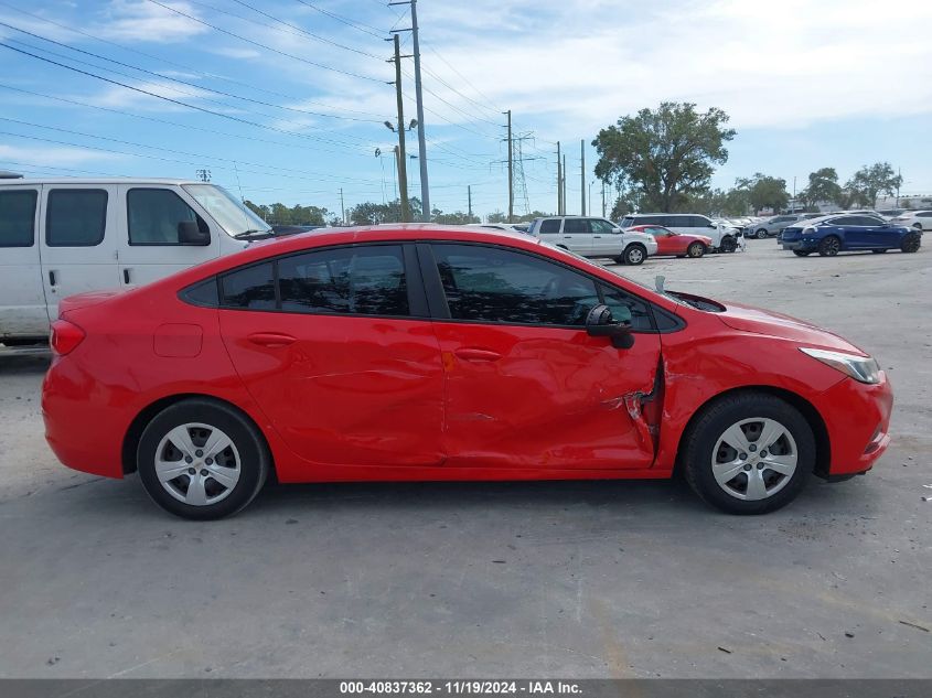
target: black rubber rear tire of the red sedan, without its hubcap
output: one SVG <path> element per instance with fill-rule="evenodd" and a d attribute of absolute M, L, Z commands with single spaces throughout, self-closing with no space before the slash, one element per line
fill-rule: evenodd
<path fill-rule="evenodd" d="M 178 479 L 163 485 L 156 471 L 156 457 L 160 444 L 165 451 L 161 454 L 162 458 L 165 458 L 168 451 L 174 449 L 172 453 L 168 454 L 176 454 L 179 458 L 167 460 L 178 462 L 180 468 L 184 468 L 182 464 L 184 462 L 183 457 L 180 455 L 182 451 L 175 449 L 171 441 L 167 444 L 163 443 L 163 439 L 169 439 L 169 432 L 176 427 L 184 428 L 195 448 L 199 444 L 206 445 L 199 443 L 197 433 L 199 431 L 206 432 L 210 436 L 212 432 L 186 428 L 190 425 L 204 425 L 208 429 L 222 431 L 229 438 L 233 449 L 218 452 L 216 457 L 217 466 L 221 465 L 222 457 L 227 459 L 238 457 L 238 480 L 232 487 L 223 487 L 219 480 L 211 477 L 206 468 L 214 465 L 208 463 L 212 459 L 205 458 L 203 462 L 200 460 L 195 460 L 193 463 L 188 462 L 193 465 L 188 471 L 189 473 L 195 471 L 194 474 L 196 475 L 199 468 L 201 475 L 206 473 L 206 476 L 201 480 L 205 483 L 204 490 L 207 492 L 207 496 L 211 496 L 212 492 L 214 496 L 223 495 L 214 503 L 194 505 L 175 498 L 169 493 L 168 488 L 171 487 L 178 492 L 180 487 L 185 486 L 190 491 L 191 475 L 181 473 Z M 199 450 L 196 453 L 203 454 L 203 451 Z M 139 479 L 152 501 L 175 516 L 195 520 L 223 518 L 243 509 L 259 494 L 271 469 L 271 455 L 256 425 L 229 405 L 202 398 L 175 402 L 156 415 L 142 432 L 136 458 Z M 185 477 L 188 479 L 186 482 Z M 226 490 L 229 490 L 229 492 L 224 494 Z"/>

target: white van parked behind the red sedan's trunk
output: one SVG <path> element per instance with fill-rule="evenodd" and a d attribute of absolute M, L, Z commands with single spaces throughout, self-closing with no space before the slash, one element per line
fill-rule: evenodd
<path fill-rule="evenodd" d="M 60 299 L 140 286 L 268 230 L 204 182 L 0 180 L 0 343 L 46 339 Z"/>

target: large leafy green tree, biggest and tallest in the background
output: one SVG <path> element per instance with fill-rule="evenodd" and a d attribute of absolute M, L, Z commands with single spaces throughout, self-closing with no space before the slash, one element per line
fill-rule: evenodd
<path fill-rule="evenodd" d="M 728 160 L 725 142 L 735 130 L 718 108 L 696 111 L 690 103 L 664 101 L 641 109 L 599 131 L 592 144 L 599 153 L 596 176 L 625 182 L 641 194 L 645 208 L 675 211 L 690 195 L 708 190 L 713 164 Z"/>

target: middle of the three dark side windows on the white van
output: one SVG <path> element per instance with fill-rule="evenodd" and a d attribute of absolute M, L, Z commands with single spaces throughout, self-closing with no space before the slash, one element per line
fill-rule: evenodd
<path fill-rule="evenodd" d="M 55 189 L 49 192 L 45 241 L 50 247 L 94 247 L 104 240 L 107 192 Z"/>

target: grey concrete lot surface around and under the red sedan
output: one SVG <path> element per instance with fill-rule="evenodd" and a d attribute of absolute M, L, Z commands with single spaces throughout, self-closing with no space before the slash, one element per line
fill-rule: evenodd
<path fill-rule="evenodd" d="M 681 482 L 276 486 L 170 517 L 58 465 L 0 358 L 2 677 L 932 677 L 932 251 L 619 268 L 815 321 L 892 377 L 874 472 L 737 518 Z"/>

